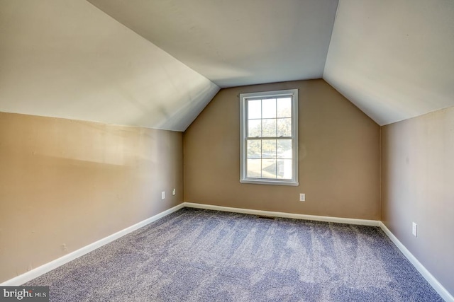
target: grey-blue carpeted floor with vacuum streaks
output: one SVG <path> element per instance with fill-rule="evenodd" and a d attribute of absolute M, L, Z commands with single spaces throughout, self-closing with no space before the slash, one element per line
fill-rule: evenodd
<path fill-rule="evenodd" d="M 443 301 L 380 228 L 182 209 L 24 285 L 51 301 Z"/>

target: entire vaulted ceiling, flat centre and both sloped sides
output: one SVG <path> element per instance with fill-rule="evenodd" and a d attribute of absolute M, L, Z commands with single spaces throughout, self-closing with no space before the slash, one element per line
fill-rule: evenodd
<path fill-rule="evenodd" d="M 0 111 L 184 131 L 220 88 L 325 79 L 378 124 L 454 105 L 450 0 L 0 0 Z"/>

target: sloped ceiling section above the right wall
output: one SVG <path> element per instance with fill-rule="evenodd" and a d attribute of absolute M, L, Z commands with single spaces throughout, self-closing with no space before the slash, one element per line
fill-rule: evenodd
<path fill-rule="evenodd" d="M 380 125 L 454 105 L 454 1 L 340 0 L 323 79 Z"/>

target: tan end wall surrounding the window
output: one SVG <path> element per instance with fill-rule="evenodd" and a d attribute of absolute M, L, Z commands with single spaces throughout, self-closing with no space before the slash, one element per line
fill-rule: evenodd
<path fill-rule="evenodd" d="M 299 187 L 240 184 L 238 94 L 289 88 L 299 89 Z M 323 80 L 222 89 L 184 132 L 184 201 L 380 219 L 380 127 Z"/>

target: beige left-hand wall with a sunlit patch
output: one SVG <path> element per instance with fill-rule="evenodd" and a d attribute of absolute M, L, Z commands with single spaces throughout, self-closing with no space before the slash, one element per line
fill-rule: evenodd
<path fill-rule="evenodd" d="M 0 112 L 0 282 L 181 203 L 182 175 L 181 132 Z"/>

